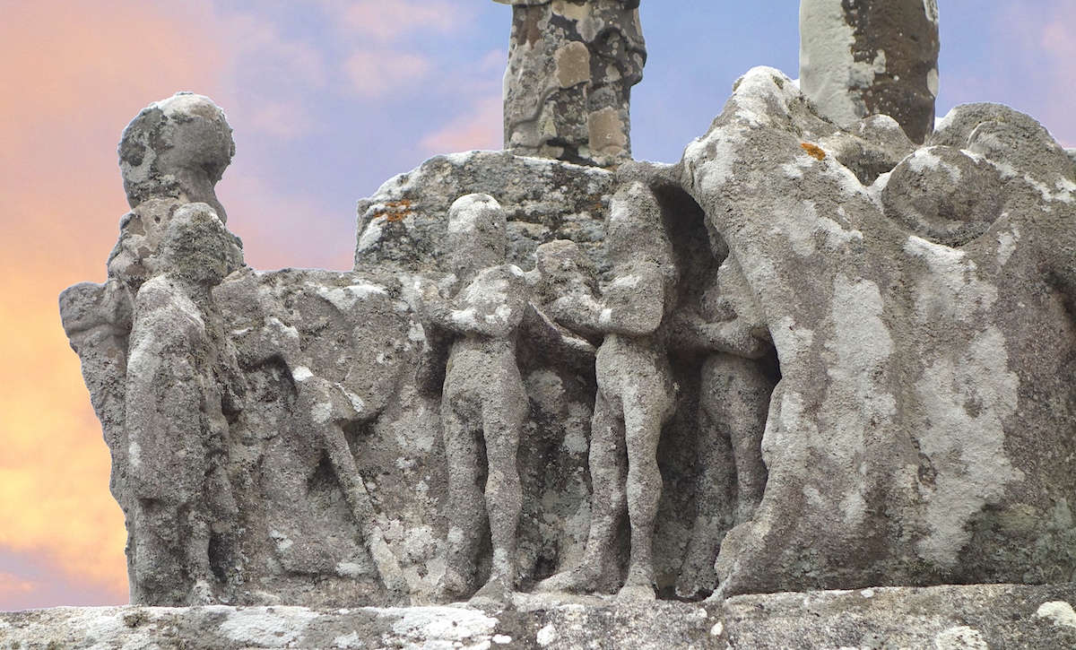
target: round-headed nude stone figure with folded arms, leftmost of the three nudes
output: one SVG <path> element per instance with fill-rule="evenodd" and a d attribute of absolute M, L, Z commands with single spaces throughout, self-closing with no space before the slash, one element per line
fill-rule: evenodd
<path fill-rule="evenodd" d="M 515 588 L 515 534 L 522 493 L 516 467 L 527 394 L 515 361 L 515 329 L 526 307 L 523 271 L 505 264 L 505 215 L 489 195 L 467 195 L 449 210 L 453 266 L 462 288 L 451 302 L 421 283 L 428 323 L 456 338 L 441 395 L 449 462 L 449 593 L 470 593 L 479 533 L 489 521 L 493 567 L 473 603 L 504 604 Z M 487 472 L 481 447 L 485 448 Z M 486 514 L 483 518 L 483 513 Z"/>

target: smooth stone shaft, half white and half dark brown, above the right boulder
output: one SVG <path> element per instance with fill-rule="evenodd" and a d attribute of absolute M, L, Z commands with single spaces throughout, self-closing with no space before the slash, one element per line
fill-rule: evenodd
<path fill-rule="evenodd" d="M 802 0 L 799 86 L 838 124 L 890 115 L 912 141 L 934 130 L 937 0 Z"/>

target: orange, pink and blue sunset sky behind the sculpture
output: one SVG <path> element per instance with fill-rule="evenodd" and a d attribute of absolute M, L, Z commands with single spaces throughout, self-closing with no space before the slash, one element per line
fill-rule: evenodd
<path fill-rule="evenodd" d="M 939 0 L 938 115 L 1008 103 L 1076 146 L 1076 2 Z M 675 162 L 753 66 L 797 76 L 797 0 L 642 0 L 636 158 Z M 227 112 L 246 262 L 348 269 L 356 200 L 499 149 L 511 9 L 490 0 L 0 0 L 0 610 L 127 602 L 109 453 L 57 311 L 104 280 L 124 126 L 179 90 Z"/>

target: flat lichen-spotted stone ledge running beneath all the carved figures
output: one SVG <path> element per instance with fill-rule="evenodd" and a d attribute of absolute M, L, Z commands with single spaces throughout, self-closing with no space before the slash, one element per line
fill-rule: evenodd
<path fill-rule="evenodd" d="M 60 607 L 0 612 L 0 649 L 1076 648 L 1076 584 L 877 588 L 621 604 L 521 594 L 514 607 Z"/>

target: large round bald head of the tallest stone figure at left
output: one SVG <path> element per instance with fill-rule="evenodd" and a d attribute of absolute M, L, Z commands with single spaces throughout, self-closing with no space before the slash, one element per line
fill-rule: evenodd
<path fill-rule="evenodd" d="M 152 198 L 211 206 L 227 221 L 214 186 L 236 153 L 231 127 L 208 97 L 180 93 L 139 113 L 119 140 L 119 170 L 131 208 Z"/>

